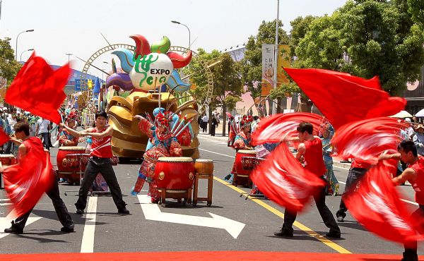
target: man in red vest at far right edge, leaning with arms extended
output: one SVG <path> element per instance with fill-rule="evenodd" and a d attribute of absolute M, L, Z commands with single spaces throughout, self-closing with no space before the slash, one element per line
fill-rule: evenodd
<path fill-rule="evenodd" d="M 408 181 L 416 191 L 416 202 L 418 209 L 412 213 L 415 220 L 424 218 L 424 157 L 418 155 L 416 145 L 413 141 L 403 140 L 398 146 L 398 152 L 394 154 L 384 153 L 379 159 L 400 159 L 408 164 L 408 167 L 401 175 L 392 178 L 393 183 L 397 185 Z M 403 261 L 418 261 L 417 242 L 410 241 L 405 243 L 405 252 Z"/>

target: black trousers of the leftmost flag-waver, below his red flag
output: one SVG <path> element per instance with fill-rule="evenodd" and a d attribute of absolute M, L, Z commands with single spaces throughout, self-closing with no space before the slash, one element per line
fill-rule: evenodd
<path fill-rule="evenodd" d="M 57 217 L 59 218 L 62 226 L 70 226 L 73 224 L 71 215 L 69 215 L 68 209 L 64 201 L 60 198 L 59 186 L 57 185 L 57 178 L 54 179 L 52 188 L 46 193 L 49 198 L 52 200 L 54 210 L 56 211 Z M 23 230 L 25 227 L 26 221 L 33 210 L 30 210 L 18 217 L 15 221 L 12 221 L 12 227 L 16 227 L 19 230 Z"/>

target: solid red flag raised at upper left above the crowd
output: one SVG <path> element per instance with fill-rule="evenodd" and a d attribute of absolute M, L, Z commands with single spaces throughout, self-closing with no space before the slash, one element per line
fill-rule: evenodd
<path fill-rule="evenodd" d="M 57 109 L 66 98 L 64 87 L 69 73 L 69 64 L 54 71 L 33 52 L 8 87 L 6 102 L 59 124 L 61 117 Z"/>

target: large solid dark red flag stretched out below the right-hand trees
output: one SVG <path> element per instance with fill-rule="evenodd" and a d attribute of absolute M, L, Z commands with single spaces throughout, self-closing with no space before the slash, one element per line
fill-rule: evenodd
<path fill-rule="evenodd" d="M 377 77 L 370 80 L 322 69 L 284 68 L 335 129 L 346 123 L 403 110 L 406 100 L 381 90 Z"/>

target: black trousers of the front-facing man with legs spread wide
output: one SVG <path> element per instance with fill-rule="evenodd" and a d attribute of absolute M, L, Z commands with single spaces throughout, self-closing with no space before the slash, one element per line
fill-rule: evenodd
<path fill-rule="evenodd" d="M 117 181 L 117 176 L 114 174 L 112 163 L 109 158 L 90 157 L 86 171 L 84 172 L 83 181 L 78 192 L 78 201 L 75 206 L 78 210 L 84 210 L 87 205 L 88 190 L 93 185 L 95 177 L 100 172 L 110 188 L 112 199 L 117 206 L 118 210 L 122 210 L 126 203 L 122 200 L 121 188 Z"/>

